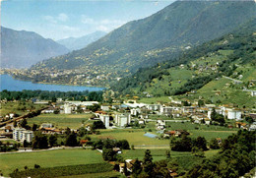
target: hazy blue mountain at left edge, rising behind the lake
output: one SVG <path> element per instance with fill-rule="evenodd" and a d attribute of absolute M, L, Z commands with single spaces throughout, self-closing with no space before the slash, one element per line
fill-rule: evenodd
<path fill-rule="evenodd" d="M 28 68 L 38 61 L 68 52 L 63 45 L 35 32 L 1 27 L 2 68 Z"/>

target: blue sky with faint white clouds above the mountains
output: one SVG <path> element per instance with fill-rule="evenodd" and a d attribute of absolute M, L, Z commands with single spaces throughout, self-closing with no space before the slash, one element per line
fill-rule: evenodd
<path fill-rule="evenodd" d="M 5 0 L 1 2 L 1 26 L 58 40 L 96 30 L 109 32 L 155 14 L 171 3 L 172 0 Z"/>

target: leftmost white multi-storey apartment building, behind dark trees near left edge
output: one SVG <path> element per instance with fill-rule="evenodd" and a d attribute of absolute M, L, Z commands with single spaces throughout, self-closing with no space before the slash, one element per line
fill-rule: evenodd
<path fill-rule="evenodd" d="M 13 139 L 15 141 L 27 141 L 28 143 L 32 142 L 33 133 L 32 131 L 27 131 L 24 128 L 14 128 L 13 130 Z"/>

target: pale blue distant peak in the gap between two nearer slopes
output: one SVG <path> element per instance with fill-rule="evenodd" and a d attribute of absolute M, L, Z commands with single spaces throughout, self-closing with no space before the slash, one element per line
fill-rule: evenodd
<path fill-rule="evenodd" d="M 56 42 L 66 46 L 70 50 L 78 50 L 86 47 L 88 44 L 95 42 L 97 39 L 105 35 L 104 31 L 96 31 L 81 37 L 69 37 L 57 40 Z"/>

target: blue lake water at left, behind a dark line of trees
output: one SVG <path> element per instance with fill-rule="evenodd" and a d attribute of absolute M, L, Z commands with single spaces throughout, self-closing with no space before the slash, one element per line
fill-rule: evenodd
<path fill-rule="evenodd" d="M 30 90 L 59 90 L 59 91 L 96 91 L 102 90 L 104 88 L 95 88 L 95 87 L 82 87 L 82 86 L 62 86 L 62 85 L 46 85 L 46 84 L 33 84 L 32 82 L 20 81 L 13 79 L 9 75 L 0 75 L 0 90 L 17 90 L 21 91 L 23 89 Z"/>

